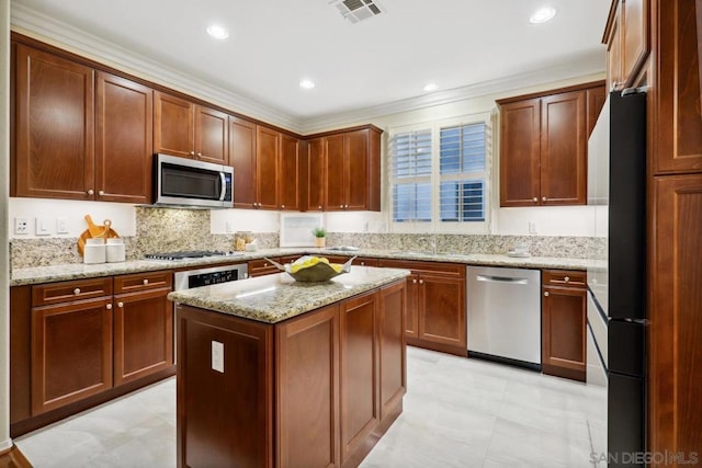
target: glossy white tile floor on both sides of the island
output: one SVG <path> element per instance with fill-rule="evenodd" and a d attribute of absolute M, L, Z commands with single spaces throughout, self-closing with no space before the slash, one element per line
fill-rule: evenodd
<path fill-rule="evenodd" d="M 591 387 L 416 347 L 407 356 L 405 410 L 362 467 L 592 466 Z M 176 380 L 14 442 L 37 468 L 174 467 Z"/>

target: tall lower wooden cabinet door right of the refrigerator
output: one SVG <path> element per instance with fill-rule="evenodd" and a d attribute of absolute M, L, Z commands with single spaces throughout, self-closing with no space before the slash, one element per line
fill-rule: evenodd
<path fill-rule="evenodd" d="M 702 174 L 656 178 L 653 189 L 647 448 L 689 454 L 702 448 L 702 386 L 692 384 L 702 374 Z"/>

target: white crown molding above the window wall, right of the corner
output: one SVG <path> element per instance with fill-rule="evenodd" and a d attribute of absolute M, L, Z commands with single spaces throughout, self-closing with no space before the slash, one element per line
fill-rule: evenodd
<path fill-rule="evenodd" d="M 446 91 L 439 91 L 416 98 L 408 98 L 393 101 L 385 104 L 367 106 L 349 112 L 327 114 L 318 117 L 310 117 L 302 121 L 303 134 L 313 134 L 321 129 L 342 127 L 344 125 L 371 121 L 403 112 L 417 111 L 438 105 L 451 104 L 474 98 L 484 98 L 492 94 L 507 93 L 524 88 L 544 85 L 562 80 L 570 80 L 592 75 L 602 75 L 604 78 L 604 67 L 602 57 L 593 54 L 586 54 L 573 58 L 567 64 L 512 75 L 496 80 L 483 81 Z"/>

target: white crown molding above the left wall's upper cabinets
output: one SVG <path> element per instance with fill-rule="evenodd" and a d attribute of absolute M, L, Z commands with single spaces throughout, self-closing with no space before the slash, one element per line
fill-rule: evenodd
<path fill-rule="evenodd" d="M 213 85 L 192 75 L 157 62 L 138 52 L 127 49 L 101 37 L 88 34 L 44 13 L 12 3 L 10 23 L 13 31 L 36 39 L 88 56 L 95 61 L 165 87 L 194 95 L 231 111 L 299 133 L 302 122 L 272 106 L 256 102 L 242 94 Z"/>

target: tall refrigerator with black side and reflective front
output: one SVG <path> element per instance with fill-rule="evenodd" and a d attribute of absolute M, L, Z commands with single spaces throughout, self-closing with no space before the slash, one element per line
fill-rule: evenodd
<path fill-rule="evenodd" d="M 597 466 L 636 466 L 645 450 L 646 93 L 608 95 L 588 141 L 588 205 L 598 242 L 588 267 L 588 385 L 605 388 Z M 603 399 L 604 400 L 604 399 Z"/>

